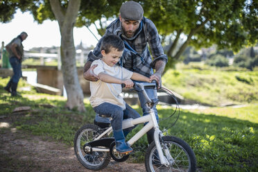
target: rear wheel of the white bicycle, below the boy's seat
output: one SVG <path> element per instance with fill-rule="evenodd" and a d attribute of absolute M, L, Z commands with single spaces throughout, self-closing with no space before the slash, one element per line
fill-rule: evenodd
<path fill-rule="evenodd" d="M 105 151 L 94 151 L 85 153 L 83 146 L 89 141 L 93 141 L 98 135 L 101 135 L 102 130 L 93 124 L 86 124 L 81 127 L 74 137 L 74 152 L 80 164 L 83 164 L 86 169 L 101 170 L 110 162 L 110 153 Z"/>

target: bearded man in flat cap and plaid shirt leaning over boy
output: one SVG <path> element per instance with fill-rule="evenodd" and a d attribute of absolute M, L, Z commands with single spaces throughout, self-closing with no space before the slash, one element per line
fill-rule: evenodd
<path fill-rule="evenodd" d="M 135 1 L 123 3 L 119 12 L 119 18 L 114 20 L 110 26 L 107 26 L 105 35 L 112 33 L 119 35 L 123 40 L 126 49 L 122 56 L 121 65 L 130 71 L 150 77 L 150 80 L 157 80 L 159 86 L 161 86 L 161 77 L 168 58 L 162 49 L 157 28 L 150 19 L 143 17 L 144 10 L 141 5 Z M 96 81 L 99 79 L 93 72 L 96 66 L 90 66 L 94 60 L 102 57 L 100 51 L 101 42 L 102 38 L 99 40 L 94 51 L 90 52 L 88 55 L 83 74 L 86 80 Z M 154 59 L 150 56 L 148 45 L 150 46 Z M 153 69 L 155 69 L 154 74 Z M 156 89 L 146 89 L 146 92 L 151 99 L 157 98 Z M 144 105 L 144 96 L 141 92 L 138 96 L 141 102 L 141 108 L 144 112 L 143 115 L 146 115 L 148 114 L 148 108 Z M 156 108 L 155 114 L 158 120 Z M 104 119 L 98 116 L 96 116 L 95 121 L 105 122 Z M 153 130 L 147 133 L 147 137 L 150 144 L 151 141 L 153 141 Z"/>

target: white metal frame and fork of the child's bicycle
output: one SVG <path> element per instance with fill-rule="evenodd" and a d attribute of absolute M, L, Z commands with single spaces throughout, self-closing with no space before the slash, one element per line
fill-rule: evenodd
<path fill-rule="evenodd" d="M 142 85 L 141 83 L 137 83 L 137 85 L 143 90 L 144 96 L 146 96 L 147 100 L 150 102 L 150 98 L 148 98 L 148 95 L 146 94 L 146 91 L 144 89 L 144 85 Z M 139 130 L 139 132 L 137 132 L 131 139 L 129 139 L 127 141 L 127 143 L 131 146 L 138 139 L 140 139 L 144 134 L 146 134 L 146 132 L 148 132 L 149 130 L 154 128 L 154 141 L 155 141 L 155 145 L 156 145 L 156 148 L 157 148 L 157 153 L 160 157 L 160 162 L 161 162 L 161 164 L 164 164 L 165 166 L 169 166 L 169 164 L 172 164 L 174 162 L 174 160 L 173 160 L 173 157 L 171 157 L 171 155 L 169 153 L 169 149 L 167 147 L 164 148 L 165 156 L 162 152 L 162 147 L 161 147 L 161 144 L 160 144 L 160 137 L 163 136 L 163 133 L 160 130 L 159 125 L 157 123 L 157 119 L 155 117 L 154 110 L 152 108 L 150 108 L 149 114 L 145 115 L 144 117 L 139 117 L 137 119 L 125 119 L 125 120 L 123 120 L 122 126 L 123 126 L 123 129 L 126 129 L 126 128 L 136 126 L 139 123 L 147 123 L 147 124 L 146 124 L 146 126 L 144 126 L 144 128 L 141 128 L 141 130 Z M 105 130 L 105 132 L 101 133 L 101 135 L 96 137 L 96 139 L 94 139 L 94 140 L 101 139 L 101 137 L 103 137 L 106 134 L 110 134 L 111 132 L 112 132 L 112 127 L 107 128 L 107 130 Z M 109 148 L 92 148 L 92 151 L 106 151 L 106 152 L 109 152 L 110 149 Z"/>

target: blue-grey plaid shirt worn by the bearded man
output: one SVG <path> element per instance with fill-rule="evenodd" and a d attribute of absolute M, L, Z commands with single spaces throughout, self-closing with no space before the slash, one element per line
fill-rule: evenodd
<path fill-rule="evenodd" d="M 157 60 L 163 60 L 164 62 L 168 60 L 162 49 L 157 28 L 150 19 L 144 17 L 135 35 L 128 38 L 123 34 L 121 22 L 118 18 L 110 26 L 107 26 L 105 35 L 107 34 L 119 35 L 123 42 L 125 42 L 126 49 L 123 51 L 121 60 L 123 61 L 123 67 L 130 71 L 149 77 L 153 74 Z M 87 61 L 93 62 L 96 59 L 102 58 L 100 51 L 101 42 L 102 38 L 99 40 L 94 51 L 89 53 Z M 147 43 L 150 46 L 153 59 L 150 56 Z"/>

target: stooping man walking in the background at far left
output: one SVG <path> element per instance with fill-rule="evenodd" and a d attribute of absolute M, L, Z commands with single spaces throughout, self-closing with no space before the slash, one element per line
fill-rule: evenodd
<path fill-rule="evenodd" d="M 17 85 L 19 83 L 19 78 L 22 77 L 22 58 L 24 57 L 24 46 L 22 42 L 26 40 L 28 34 L 22 32 L 17 37 L 15 37 L 9 44 L 6 45 L 6 50 L 9 53 L 9 61 L 12 66 L 13 76 L 10 78 L 6 87 L 7 92 L 10 92 L 12 96 L 17 96 Z"/>

